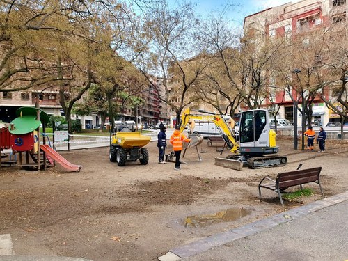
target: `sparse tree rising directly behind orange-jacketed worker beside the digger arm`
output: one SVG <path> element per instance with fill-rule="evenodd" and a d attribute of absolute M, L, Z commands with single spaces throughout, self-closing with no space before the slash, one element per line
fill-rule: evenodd
<path fill-rule="evenodd" d="M 182 109 L 191 104 L 196 97 L 189 95 L 206 64 L 205 56 L 195 49 L 197 19 L 191 3 L 177 3 L 169 8 L 166 1 L 158 1 L 146 10 L 143 24 L 137 26 L 138 35 L 134 39 L 134 63 L 141 69 L 154 88 L 152 75 L 161 78 L 166 90 L 166 102 L 180 118 Z M 171 88 L 175 79 L 177 86 Z M 169 100 L 169 92 L 177 99 Z"/>

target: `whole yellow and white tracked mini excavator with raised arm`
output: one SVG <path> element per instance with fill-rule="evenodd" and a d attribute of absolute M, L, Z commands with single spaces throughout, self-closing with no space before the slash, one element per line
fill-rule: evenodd
<path fill-rule="evenodd" d="M 269 113 L 265 109 L 243 111 L 235 132 L 234 120 L 227 122 L 218 114 L 188 108 L 182 113 L 180 132 L 187 125 L 192 130 L 195 120 L 214 122 L 219 128 L 226 147 L 233 153 L 226 157 L 229 168 L 241 170 L 243 166 L 269 168 L 287 164 L 287 157 L 272 155 L 278 153 L 279 147 L 276 145 L 276 132 L 269 127 Z"/>

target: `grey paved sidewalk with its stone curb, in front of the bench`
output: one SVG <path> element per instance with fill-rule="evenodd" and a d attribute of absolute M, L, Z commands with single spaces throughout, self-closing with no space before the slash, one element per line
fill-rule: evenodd
<path fill-rule="evenodd" d="M 161 261 L 348 260 L 348 191 L 171 249 Z"/>

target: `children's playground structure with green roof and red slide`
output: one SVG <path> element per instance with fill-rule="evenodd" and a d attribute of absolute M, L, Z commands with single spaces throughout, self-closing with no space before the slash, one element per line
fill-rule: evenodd
<path fill-rule="evenodd" d="M 36 107 L 21 107 L 17 109 L 16 115 L 18 117 L 10 123 L 10 127 L 1 128 L 0 153 L 3 149 L 12 149 L 17 155 L 19 168 L 35 168 L 40 171 L 48 166 L 55 166 L 57 162 L 68 171 L 81 170 L 81 166 L 71 164 L 46 145 L 45 127 L 49 122 L 49 117 L 45 111 L 38 108 L 38 105 Z M 40 144 L 41 125 L 42 144 Z"/>

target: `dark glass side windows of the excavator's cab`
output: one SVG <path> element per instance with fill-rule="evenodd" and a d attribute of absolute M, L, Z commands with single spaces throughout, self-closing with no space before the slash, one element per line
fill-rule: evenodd
<path fill-rule="evenodd" d="M 266 125 L 266 111 L 245 111 L 240 120 L 240 142 L 258 141 Z"/>

